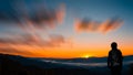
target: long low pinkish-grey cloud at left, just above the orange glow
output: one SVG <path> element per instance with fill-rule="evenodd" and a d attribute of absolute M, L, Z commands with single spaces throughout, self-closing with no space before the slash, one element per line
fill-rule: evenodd
<path fill-rule="evenodd" d="M 3 45 L 37 45 L 44 47 L 54 47 L 60 46 L 61 44 L 66 43 L 66 39 L 60 34 L 49 35 L 49 40 L 44 40 L 39 35 L 24 34 L 13 38 L 0 39 L 0 44 Z"/>

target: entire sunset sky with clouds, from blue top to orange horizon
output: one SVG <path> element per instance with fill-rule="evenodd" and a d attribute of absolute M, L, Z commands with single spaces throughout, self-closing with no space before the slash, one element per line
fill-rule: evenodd
<path fill-rule="evenodd" d="M 132 0 L 0 0 L 0 53 L 30 57 L 133 55 Z"/>

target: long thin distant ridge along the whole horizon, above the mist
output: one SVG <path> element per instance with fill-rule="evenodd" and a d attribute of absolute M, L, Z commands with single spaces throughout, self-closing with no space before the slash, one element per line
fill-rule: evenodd
<path fill-rule="evenodd" d="M 0 54 L 1 55 L 1 54 Z M 18 61 L 22 61 L 23 56 L 21 55 L 10 55 L 10 54 L 3 54 L 10 56 L 10 58 L 16 58 Z M 73 62 L 73 63 L 105 63 L 108 61 L 108 57 L 89 57 L 89 58 L 83 58 L 83 57 L 75 57 L 75 58 L 47 58 L 47 57 L 24 57 L 24 60 L 35 60 L 39 62 L 39 60 L 49 60 L 49 61 L 57 61 L 57 62 Z M 133 61 L 133 55 L 127 55 L 123 57 L 123 62 L 126 61 Z M 24 63 L 24 62 L 23 62 Z"/>

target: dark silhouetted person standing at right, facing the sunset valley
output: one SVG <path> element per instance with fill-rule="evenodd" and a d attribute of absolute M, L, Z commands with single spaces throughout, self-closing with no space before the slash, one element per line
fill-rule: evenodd
<path fill-rule="evenodd" d="M 112 50 L 109 52 L 108 67 L 111 69 L 112 75 L 121 75 L 123 56 L 117 44 L 113 42 L 111 44 Z"/>

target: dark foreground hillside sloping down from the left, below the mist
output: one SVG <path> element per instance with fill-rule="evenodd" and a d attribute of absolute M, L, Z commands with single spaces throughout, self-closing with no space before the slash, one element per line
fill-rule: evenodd
<path fill-rule="evenodd" d="M 83 68 L 74 65 L 42 62 L 37 58 L 0 54 L 0 75 L 110 75 L 110 72 L 106 67 Z M 123 75 L 133 75 L 133 64 Z"/>

